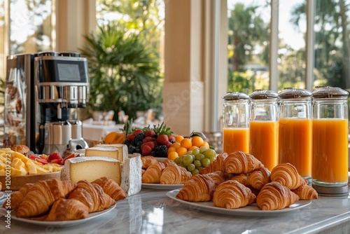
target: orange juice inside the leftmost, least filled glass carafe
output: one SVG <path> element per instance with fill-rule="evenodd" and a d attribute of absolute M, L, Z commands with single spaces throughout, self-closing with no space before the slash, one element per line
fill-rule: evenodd
<path fill-rule="evenodd" d="M 223 128 L 223 152 L 249 153 L 249 128 Z"/>

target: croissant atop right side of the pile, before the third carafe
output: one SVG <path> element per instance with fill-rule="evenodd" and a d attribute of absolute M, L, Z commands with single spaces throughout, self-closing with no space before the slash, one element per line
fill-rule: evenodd
<path fill-rule="evenodd" d="M 279 184 L 294 190 L 305 184 L 305 180 L 297 173 L 297 168 L 290 163 L 281 163 L 272 169 L 270 175 L 271 181 L 279 182 Z"/>

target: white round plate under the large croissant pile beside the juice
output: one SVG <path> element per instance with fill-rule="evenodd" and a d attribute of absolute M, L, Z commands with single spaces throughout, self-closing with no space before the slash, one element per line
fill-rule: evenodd
<path fill-rule="evenodd" d="M 181 202 L 185 205 L 189 205 L 194 209 L 201 209 L 207 212 L 214 212 L 218 214 L 229 214 L 229 215 L 240 215 L 240 216 L 274 216 L 283 213 L 295 212 L 297 209 L 306 207 L 311 204 L 311 200 L 299 200 L 295 202 L 290 207 L 278 210 L 260 210 L 256 203 L 252 205 L 247 205 L 246 207 L 241 207 L 239 209 L 225 209 L 221 207 L 215 207 L 212 201 L 210 202 L 188 202 L 186 200 L 181 200 L 176 198 L 176 195 L 179 193 L 179 189 L 167 192 L 167 196 Z"/>

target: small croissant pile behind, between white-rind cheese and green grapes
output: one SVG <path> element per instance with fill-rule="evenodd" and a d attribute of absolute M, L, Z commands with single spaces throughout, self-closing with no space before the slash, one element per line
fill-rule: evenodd
<path fill-rule="evenodd" d="M 142 160 L 142 183 L 144 184 L 185 184 L 190 177 L 185 167 L 180 167 L 173 160 L 162 163 L 153 156 L 144 156 Z"/>

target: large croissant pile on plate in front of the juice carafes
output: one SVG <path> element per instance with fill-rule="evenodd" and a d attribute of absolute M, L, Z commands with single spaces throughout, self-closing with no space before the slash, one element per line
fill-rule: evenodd
<path fill-rule="evenodd" d="M 237 209 L 256 202 L 259 209 L 276 210 L 297 200 L 313 200 L 318 193 L 290 163 L 271 172 L 249 153 L 223 153 L 200 174 L 191 177 L 176 195 L 190 202 L 213 201 L 216 207 Z"/>

